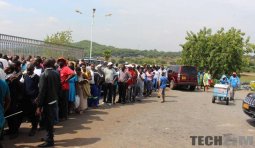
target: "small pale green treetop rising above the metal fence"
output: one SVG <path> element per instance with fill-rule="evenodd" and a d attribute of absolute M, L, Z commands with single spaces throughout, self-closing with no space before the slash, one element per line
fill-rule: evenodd
<path fill-rule="evenodd" d="M 63 44 L 63 45 L 70 45 L 72 40 L 72 31 L 61 31 L 51 36 L 47 35 L 45 42 L 55 43 L 55 44 Z"/>

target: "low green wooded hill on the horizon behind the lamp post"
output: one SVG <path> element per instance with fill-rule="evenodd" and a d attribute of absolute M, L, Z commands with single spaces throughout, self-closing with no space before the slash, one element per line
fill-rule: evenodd
<path fill-rule="evenodd" d="M 83 40 L 80 42 L 73 43 L 73 46 L 81 47 L 86 49 L 87 55 L 89 55 L 89 49 L 90 49 L 90 41 Z M 112 51 L 112 56 L 114 57 L 180 57 L 181 52 L 164 52 L 164 51 L 158 51 L 156 49 L 154 50 L 137 50 L 137 49 L 127 49 L 127 48 L 116 48 L 113 46 L 106 46 L 101 45 L 98 43 L 93 42 L 93 51 L 92 55 L 93 57 L 102 57 L 103 51 L 109 49 Z"/>

